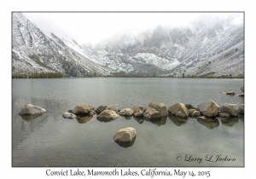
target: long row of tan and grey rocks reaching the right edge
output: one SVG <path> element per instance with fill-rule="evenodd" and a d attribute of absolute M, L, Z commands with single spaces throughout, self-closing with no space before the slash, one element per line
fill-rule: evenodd
<path fill-rule="evenodd" d="M 113 119 L 124 116 L 129 118 L 144 118 L 150 120 L 153 118 L 163 118 L 167 115 L 172 115 L 178 118 L 179 121 L 187 121 L 188 118 L 215 118 L 227 119 L 230 117 L 236 117 L 238 114 L 244 114 L 244 104 L 240 106 L 236 104 L 224 104 L 218 106 L 214 101 L 205 101 L 199 104 L 197 107 L 191 104 L 177 103 L 171 107 L 166 107 L 165 104 L 155 104 L 151 102 L 148 107 L 137 106 L 134 109 L 125 107 L 119 110 L 119 105 L 92 107 L 90 105 L 81 104 L 74 107 L 73 110 L 69 110 L 68 113 L 63 113 L 63 118 L 77 118 L 79 122 L 85 123 L 93 118 L 93 115 L 97 114 L 97 119 L 102 122 L 109 122 Z"/>

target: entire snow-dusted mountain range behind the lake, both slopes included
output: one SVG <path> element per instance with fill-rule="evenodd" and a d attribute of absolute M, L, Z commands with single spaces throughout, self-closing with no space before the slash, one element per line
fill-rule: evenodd
<path fill-rule="evenodd" d="M 14 13 L 13 72 L 236 76 L 244 73 L 244 28 L 234 21 L 236 16 L 208 15 L 187 27 L 156 26 L 92 47 L 53 33 L 46 37 L 22 14 Z"/>

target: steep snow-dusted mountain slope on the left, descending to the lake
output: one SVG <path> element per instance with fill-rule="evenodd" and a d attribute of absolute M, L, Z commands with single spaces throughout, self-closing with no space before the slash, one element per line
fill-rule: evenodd
<path fill-rule="evenodd" d="M 73 77 L 86 77 L 105 69 L 81 54 L 74 41 L 62 41 L 51 33 L 45 36 L 23 14 L 13 13 L 12 65 L 13 73 L 61 72 Z"/>

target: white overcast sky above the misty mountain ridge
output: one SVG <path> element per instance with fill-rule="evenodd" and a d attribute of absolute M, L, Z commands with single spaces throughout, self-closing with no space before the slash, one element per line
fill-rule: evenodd
<path fill-rule="evenodd" d="M 97 43 L 122 32 L 139 33 L 154 26 L 187 26 L 202 13 L 22 13 L 44 32 Z M 219 13 L 213 13 L 220 15 Z M 221 14 L 227 15 L 227 13 Z M 239 22 L 239 20 L 238 20 Z"/>

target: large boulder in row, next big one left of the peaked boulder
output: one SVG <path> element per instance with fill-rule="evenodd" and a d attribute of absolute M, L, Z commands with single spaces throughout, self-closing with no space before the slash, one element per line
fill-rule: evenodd
<path fill-rule="evenodd" d="M 189 110 L 183 103 L 177 103 L 168 108 L 168 112 L 180 118 L 188 118 Z"/>

